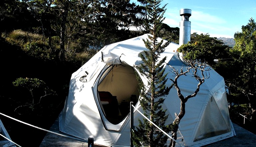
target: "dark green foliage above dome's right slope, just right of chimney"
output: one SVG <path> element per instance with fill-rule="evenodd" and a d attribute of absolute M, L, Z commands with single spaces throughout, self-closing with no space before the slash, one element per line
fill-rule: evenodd
<path fill-rule="evenodd" d="M 196 50 L 196 47 L 200 47 L 199 50 Z M 240 68 L 238 64 L 234 64 L 233 67 L 231 66 L 233 59 L 229 51 L 230 49 L 230 47 L 217 40 L 216 37 L 210 37 L 208 34 L 198 35 L 193 33 L 190 43 L 183 45 L 179 51 L 186 53 L 188 56 L 194 56 L 193 58 L 197 58 L 201 62 L 206 62 L 218 74 L 224 77 L 226 83 L 230 83 L 229 81 L 232 81 L 237 76 L 235 71 L 239 71 Z M 215 59 L 218 60 L 217 63 L 214 62 Z M 236 67 L 234 67 L 235 65 Z"/>

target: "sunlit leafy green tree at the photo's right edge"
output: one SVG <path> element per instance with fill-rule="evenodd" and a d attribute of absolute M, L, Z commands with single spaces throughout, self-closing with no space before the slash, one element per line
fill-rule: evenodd
<path fill-rule="evenodd" d="M 242 32 L 234 35 L 235 46 L 230 50 L 234 58 L 234 73 L 237 76 L 230 80 L 231 85 L 242 92 L 249 101 L 252 112 L 256 111 L 256 23 L 251 18 Z M 239 65 L 239 66 L 237 66 Z"/>

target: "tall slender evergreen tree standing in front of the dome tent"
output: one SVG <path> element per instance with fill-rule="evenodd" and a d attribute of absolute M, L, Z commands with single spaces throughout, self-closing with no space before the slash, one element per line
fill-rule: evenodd
<path fill-rule="evenodd" d="M 138 81 L 141 96 L 140 103 L 144 115 L 168 133 L 170 129 L 165 125 L 168 115 L 166 115 L 166 110 L 162 108 L 161 104 L 165 100 L 163 96 L 169 93 L 171 87 L 166 86 L 167 74 L 164 74 L 165 69 L 163 68 L 166 57 L 160 61 L 159 58 L 170 42 L 163 43 L 163 40 L 157 40 L 164 20 L 163 14 L 166 6 L 160 8 L 160 2 L 161 0 L 149 0 L 145 7 L 148 13 L 145 26 L 151 35 L 148 35 L 149 39 L 143 40 L 149 51 L 144 51 L 145 56 L 140 56 L 144 65 L 139 68 L 139 72 L 147 77 L 148 83 L 143 83 L 139 76 Z M 165 146 L 167 139 L 168 137 L 163 132 L 145 118 L 143 120 L 139 119 L 139 126 L 132 130 L 132 140 L 136 146 Z"/>

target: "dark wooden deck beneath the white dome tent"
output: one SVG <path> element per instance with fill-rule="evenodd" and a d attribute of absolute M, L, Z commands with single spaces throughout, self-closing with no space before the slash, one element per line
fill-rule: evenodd
<path fill-rule="evenodd" d="M 204 147 L 255 147 L 256 146 L 256 135 L 249 132 L 248 130 L 234 124 L 236 136 L 205 145 Z M 61 133 L 59 131 L 59 118 L 56 119 L 55 123 L 50 128 L 50 131 Z M 40 147 L 88 147 L 87 142 L 78 141 L 71 138 L 66 138 L 53 133 L 47 133 L 43 139 Z M 98 144 L 94 144 L 94 147 L 104 147 Z"/>

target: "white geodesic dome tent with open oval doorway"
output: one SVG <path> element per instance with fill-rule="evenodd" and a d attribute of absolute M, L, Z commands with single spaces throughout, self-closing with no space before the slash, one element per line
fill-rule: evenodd
<path fill-rule="evenodd" d="M 140 54 L 148 50 L 143 42 L 148 35 L 105 46 L 72 74 L 59 119 L 61 132 L 84 140 L 94 138 L 95 143 L 104 146 L 130 146 L 129 102 L 134 101 L 135 107 L 143 112 L 135 72 L 143 64 Z M 178 47 L 171 43 L 161 54 L 161 58 L 167 56 L 165 72 L 168 78 L 174 77 L 169 65 L 176 69 L 186 68 L 176 52 Z M 147 83 L 147 79 L 138 74 Z M 169 86 L 171 83 L 168 80 Z M 197 81 L 191 76 L 181 76 L 178 84 L 182 94 L 188 95 L 196 89 Z M 170 124 L 174 113 L 180 111 L 180 100 L 175 88 L 165 98 L 163 108 L 169 114 L 166 124 Z M 142 116 L 135 111 L 135 126 L 138 126 L 138 119 Z M 184 146 L 203 146 L 234 135 L 224 79 L 211 70 L 210 78 L 201 85 L 197 96 L 186 102 L 186 114 L 181 119 L 177 141 Z M 170 139 L 167 144 L 169 142 Z"/>

